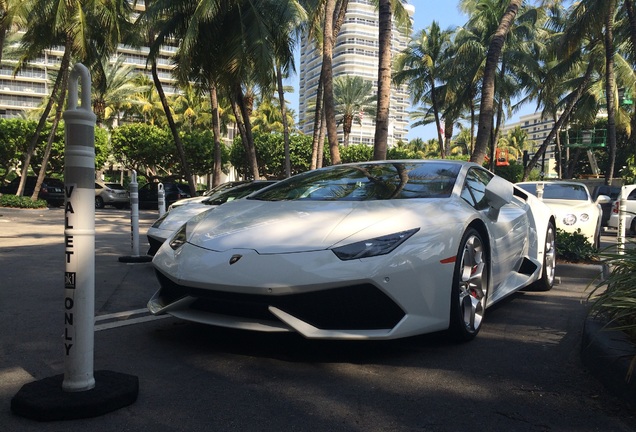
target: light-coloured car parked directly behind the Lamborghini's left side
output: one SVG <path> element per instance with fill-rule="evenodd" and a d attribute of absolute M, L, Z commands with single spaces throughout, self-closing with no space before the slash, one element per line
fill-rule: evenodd
<path fill-rule="evenodd" d="M 168 237 L 199 213 L 214 209 L 226 202 L 246 197 L 252 192 L 274 183 L 274 181 L 266 180 L 241 182 L 238 186 L 219 188 L 216 193 L 204 197 L 203 200 L 188 202 L 176 208 L 173 207 L 172 210 L 164 213 L 148 228 L 147 236 L 150 244 L 148 255 L 154 255 Z"/>

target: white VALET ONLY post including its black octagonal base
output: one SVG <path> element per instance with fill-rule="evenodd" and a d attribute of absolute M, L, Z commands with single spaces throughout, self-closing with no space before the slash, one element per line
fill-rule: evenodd
<path fill-rule="evenodd" d="M 39 421 L 96 417 L 132 404 L 139 393 L 136 376 L 93 372 L 96 117 L 90 89 L 88 69 L 76 64 L 64 112 L 64 373 L 27 383 L 11 399 L 13 413 Z"/>

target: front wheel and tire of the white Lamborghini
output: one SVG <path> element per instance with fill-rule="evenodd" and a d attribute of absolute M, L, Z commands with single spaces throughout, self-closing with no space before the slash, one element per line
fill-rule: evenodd
<path fill-rule="evenodd" d="M 488 299 L 488 265 L 486 246 L 477 230 L 469 228 L 463 235 L 455 261 L 449 333 L 457 342 L 477 336 Z"/>

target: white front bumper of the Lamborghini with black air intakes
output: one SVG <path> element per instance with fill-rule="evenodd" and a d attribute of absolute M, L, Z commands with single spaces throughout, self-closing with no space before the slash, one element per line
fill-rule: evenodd
<path fill-rule="evenodd" d="M 392 339 L 448 327 L 453 265 L 437 261 L 433 272 L 417 256 L 343 262 L 329 250 L 259 255 L 186 244 L 161 248 L 153 264 L 161 285 L 148 302 L 155 315 L 320 339 Z"/>

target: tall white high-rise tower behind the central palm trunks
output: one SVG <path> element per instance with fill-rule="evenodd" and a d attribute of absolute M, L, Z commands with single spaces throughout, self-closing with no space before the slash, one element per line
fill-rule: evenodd
<path fill-rule="evenodd" d="M 413 17 L 415 7 L 401 0 L 404 7 Z M 393 26 L 393 56 L 406 48 L 409 36 Z M 378 12 L 370 0 L 349 0 L 349 7 L 333 51 L 334 78 L 345 75 L 357 75 L 373 84 L 377 92 L 378 84 Z M 300 47 L 300 88 L 298 128 L 306 133 L 313 133 L 314 104 L 320 69 L 322 52 L 314 43 L 306 38 Z M 396 88 L 392 86 L 389 112 L 389 147 L 398 141 L 406 141 L 410 108 L 409 91 L 406 85 Z M 342 138 L 342 128 L 338 128 Z M 354 123 L 349 137 L 351 144 L 373 145 L 375 136 L 375 119 L 363 115 L 362 125 Z"/>

